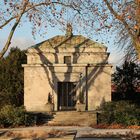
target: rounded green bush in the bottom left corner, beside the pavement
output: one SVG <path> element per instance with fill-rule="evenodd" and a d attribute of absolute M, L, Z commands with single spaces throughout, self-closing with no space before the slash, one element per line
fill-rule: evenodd
<path fill-rule="evenodd" d="M 27 114 L 23 106 L 6 105 L 0 110 L 0 127 L 17 127 L 33 124 L 34 116 Z"/>

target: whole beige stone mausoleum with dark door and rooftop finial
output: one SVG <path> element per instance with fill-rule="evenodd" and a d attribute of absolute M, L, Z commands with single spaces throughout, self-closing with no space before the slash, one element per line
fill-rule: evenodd
<path fill-rule="evenodd" d="M 81 35 L 70 25 L 65 36 L 55 36 L 27 50 L 24 64 L 24 105 L 27 111 L 95 110 L 111 100 L 111 65 L 107 48 Z"/>

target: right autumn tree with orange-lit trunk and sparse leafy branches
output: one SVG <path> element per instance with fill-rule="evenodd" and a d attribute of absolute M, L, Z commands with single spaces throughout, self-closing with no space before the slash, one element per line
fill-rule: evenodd
<path fill-rule="evenodd" d="M 87 4 L 87 2 L 89 4 Z M 97 32 L 113 31 L 119 47 L 140 59 L 140 0 L 85 0 L 86 22 Z"/>

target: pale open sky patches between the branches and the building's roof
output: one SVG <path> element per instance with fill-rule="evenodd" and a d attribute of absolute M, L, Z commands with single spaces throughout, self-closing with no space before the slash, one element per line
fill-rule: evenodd
<path fill-rule="evenodd" d="M 0 30 L 0 50 L 5 44 L 5 41 L 7 39 L 8 33 L 10 31 L 11 27 L 6 26 L 2 30 Z M 19 47 L 21 49 L 27 49 L 28 47 L 37 44 L 39 42 L 42 42 L 44 40 L 47 40 L 51 37 L 54 37 L 56 35 L 65 35 L 65 31 L 61 29 L 61 27 L 56 26 L 56 27 L 48 27 L 48 30 L 44 31 L 46 34 L 44 37 L 41 37 L 40 35 L 36 35 L 36 38 L 31 34 L 31 25 L 29 23 L 24 23 L 22 26 L 18 27 L 16 29 L 16 32 L 12 38 L 11 45 L 10 47 Z M 74 34 L 79 34 L 75 33 Z M 85 37 L 88 37 L 86 34 L 82 34 Z M 109 63 L 111 63 L 114 68 L 116 65 L 120 65 L 123 59 L 123 52 L 119 51 L 114 45 L 113 35 L 109 35 L 111 38 L 109 39 L 110 41 L 106 43 L 106 38 L 104 36 L 98 36 L 98 35 L 93 35 L 90 37 L 93 41 L 96 41 L 98 39 L 99 43 L 103 43 L 105 46 L 108 48 L 108 52 L 110 52 L 110 57 L 109 57 Z"/>

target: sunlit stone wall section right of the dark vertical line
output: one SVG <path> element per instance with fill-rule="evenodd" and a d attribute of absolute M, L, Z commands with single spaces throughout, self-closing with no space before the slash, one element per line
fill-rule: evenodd
<path fill-rule="evenodd" d="M 111 67 L 90 67 L 88 73 L 88 109 L 95 110 L 104 101 L 111 101 Z"/>

